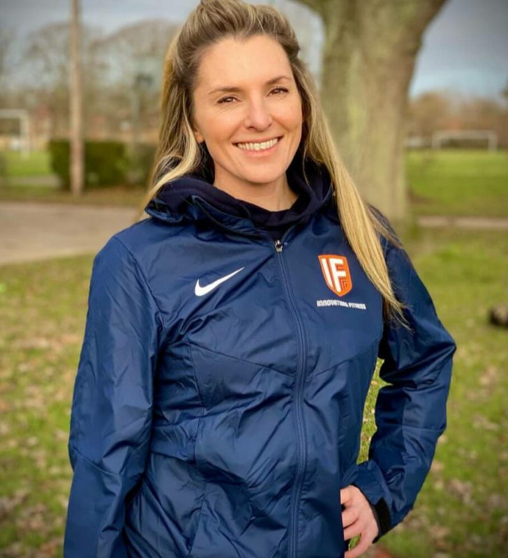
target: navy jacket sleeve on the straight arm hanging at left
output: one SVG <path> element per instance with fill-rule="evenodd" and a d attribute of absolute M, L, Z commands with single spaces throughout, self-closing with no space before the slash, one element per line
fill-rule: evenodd
<path fill-rule="evenodd" d="M 126 499 L 147 458 L 162 331 L 140 267 L 112 237 L 94 259 L 74 386 L 66 558 L 127 556 Z"/>

